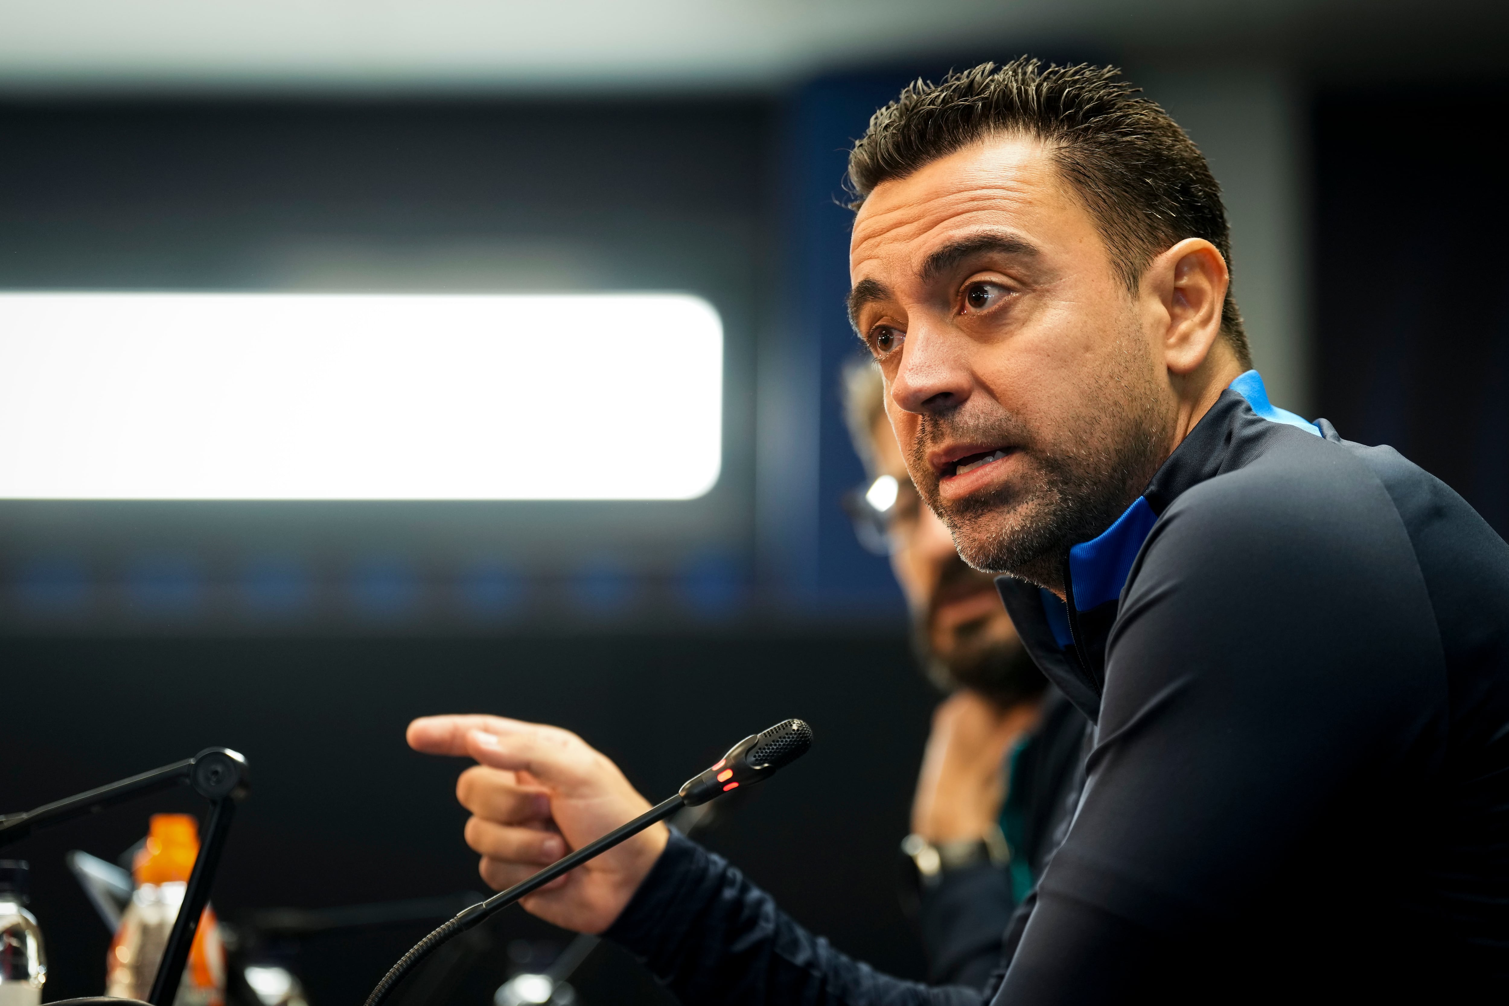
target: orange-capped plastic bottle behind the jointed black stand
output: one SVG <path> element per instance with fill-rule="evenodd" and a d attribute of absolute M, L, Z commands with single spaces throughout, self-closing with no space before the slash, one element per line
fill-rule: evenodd
<path fill-rule="evenodd" d="M 131 864 L 136 891 L 106 959 L 106 995 L 145 1000 L 167 950 L 199 855 L 199 822 L 190 814 L 152 814 L 146 845 Z M 225 947 L 208 908 L 189 949 L 174 1006 L 223 1006 Z"/>

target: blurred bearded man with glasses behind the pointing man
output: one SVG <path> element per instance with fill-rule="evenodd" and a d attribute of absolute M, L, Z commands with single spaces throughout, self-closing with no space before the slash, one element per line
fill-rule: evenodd
<path fill-rule="evenodd" d="M 911 611 L 917 661 L 942 691 L 911 834 L 931 979 L 982 985 L 1000 937 L 1073 810 L 1089 721 L 1047 683 L 1000 603 L 922 505 L 871 360 L 844 376 L 844 410 L 871 481 L 845 498 L 860 541 L 890 557 Z"/>

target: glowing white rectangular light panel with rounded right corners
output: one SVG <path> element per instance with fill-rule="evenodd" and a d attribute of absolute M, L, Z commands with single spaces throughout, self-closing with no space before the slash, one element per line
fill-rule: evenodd
<path fill-rule="evenodd" d="M 0 498 L 694 499 L 685 294 L 0 293 Z"/>

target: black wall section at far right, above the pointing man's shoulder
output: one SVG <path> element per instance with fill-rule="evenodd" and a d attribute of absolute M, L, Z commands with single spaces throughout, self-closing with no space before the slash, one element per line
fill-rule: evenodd
<path fill-rule="evenodd" d="M 1501 84 L 1335 89 L 1314 113 L 1320 413 L 1509 534 Z"/>

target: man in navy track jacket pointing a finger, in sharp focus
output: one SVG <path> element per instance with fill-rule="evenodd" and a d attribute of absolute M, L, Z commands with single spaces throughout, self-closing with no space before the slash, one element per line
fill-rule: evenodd
<path fill-rule="evenodd" d="M 1501 997 L 1509 546 L 1268 401 L 1200 151 L 1115 71 L 1019 60 L 908 87 L 850 178 L 913 483 L 1094 724 L 1067 837 L 984 992 L 850 961 L 664 830 L 525 906 L 687 1003 Z M 647 807 L 554 727 L 409 739 L 495 772 L 463 802 L 496 885 Z"/>

